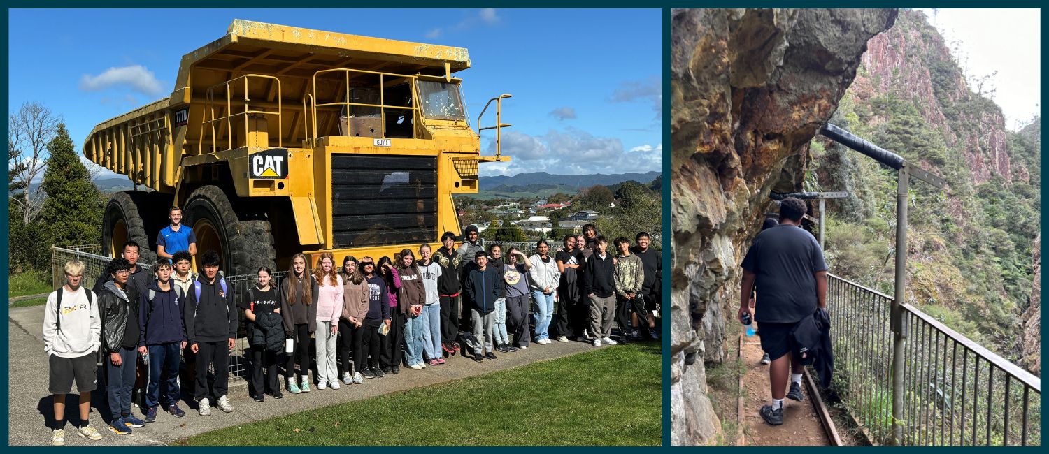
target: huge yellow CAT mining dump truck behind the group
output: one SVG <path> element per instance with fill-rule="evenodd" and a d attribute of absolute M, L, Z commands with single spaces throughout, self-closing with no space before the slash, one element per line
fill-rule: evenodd
<path fill-rule="evenodd" d="M 84 143 L 88 159 L 148 188 L 106 206 L 104 253 L 128 239 L 155 252 L 173 203 L 228 275 L 286 268 L 300 252 L 331 252 L 337 266 L 392 257 L 461 232 L 452 194 L 477 192 L 478 163 L 509 160 L 498 136 L 510 95 L 472 130 L 452 77 L 469 67 L 465 48 L 234 20 L 183 57 L 169 98 Z M 493 102 L 495 124 L 480 127 Z M 495 156 L 479 153 L 485 129 Z"/>

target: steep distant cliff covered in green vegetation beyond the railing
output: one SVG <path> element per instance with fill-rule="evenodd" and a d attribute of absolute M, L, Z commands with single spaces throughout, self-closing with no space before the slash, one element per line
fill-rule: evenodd
<path fill-rule="evenodd" d="M 903 42 L 906 52 L 891 51 Z M 1007 131 L 939 34 L 906 12 L 871 41 L 832 123 L 947 180 L 911 186 L 909 302 L 1016 361 L 1041 222 L 1041 121 Z M 851 193 L 828 203 L 833 272 L 892 295 L 895 172 L 822 137 L 812 145 L 807 189 Z"/>

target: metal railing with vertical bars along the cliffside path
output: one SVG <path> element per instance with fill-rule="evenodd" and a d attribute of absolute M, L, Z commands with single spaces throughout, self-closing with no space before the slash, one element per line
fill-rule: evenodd
<path fill-rule="evenodd" d="M 891 440 L 902 396 L 901 445 L 1041 446 L 1041 379 L 903 304 L 904 380 L 894 389 L 893 298 L 828 280 L 833 388 L 872 441 Z"/>

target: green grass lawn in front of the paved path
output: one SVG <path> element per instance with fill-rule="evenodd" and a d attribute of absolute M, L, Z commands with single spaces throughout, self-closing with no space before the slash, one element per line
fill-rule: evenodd
<path fill-rule="evenodd" d="M 602 348 L 180 440 L 190 446 L 658 446 L 658 343 Z"/>

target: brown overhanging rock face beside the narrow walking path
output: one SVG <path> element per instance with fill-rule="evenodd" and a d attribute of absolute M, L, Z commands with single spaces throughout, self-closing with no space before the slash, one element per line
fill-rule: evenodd
<path fill-rule="evenodd" d="M 800 189 L 810 139 L 855 78 L 868 40 L 896 15 L 671 13 L 672 444 L 716 439 L 704 363 L 724 358 L 738 262 L 769 192 Z"/>

